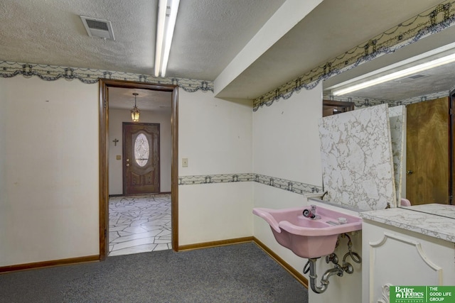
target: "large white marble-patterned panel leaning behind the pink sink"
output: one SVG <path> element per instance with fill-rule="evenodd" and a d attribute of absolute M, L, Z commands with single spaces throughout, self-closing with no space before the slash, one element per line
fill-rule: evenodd
<path fill-rule="evenodd" d="M 319 121 L 324 200 L 369 211 L 395 206 L 388 105 Z"/>

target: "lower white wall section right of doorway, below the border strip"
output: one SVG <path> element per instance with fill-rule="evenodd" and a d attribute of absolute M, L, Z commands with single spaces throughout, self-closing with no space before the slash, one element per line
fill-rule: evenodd
<path fill-rule="evenodd" d="M 179 245 L 252 236 L 252 182 L 178 187 Z"/>

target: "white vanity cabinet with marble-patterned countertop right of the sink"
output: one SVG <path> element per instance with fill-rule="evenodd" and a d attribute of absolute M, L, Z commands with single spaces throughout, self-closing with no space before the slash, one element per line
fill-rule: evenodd
<path fill-rule="evenodd" d="M 390 285 L 455 285 L 455 219 L 407 209 L 360 216 L 362 302 L 388 303 Z"/>

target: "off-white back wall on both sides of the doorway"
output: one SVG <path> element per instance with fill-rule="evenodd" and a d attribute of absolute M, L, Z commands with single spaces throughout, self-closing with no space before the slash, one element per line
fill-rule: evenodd
<path fill-rule="evenodd" d="M 0 79 L 0 266 L 99 253 L 98 96 Z M 250 101 L 179 89 L 178 115 L 179 175 L 252 172 Z M 180 244 L 251 236 L 251 209 L 252 182 L 179 186 Z"/>

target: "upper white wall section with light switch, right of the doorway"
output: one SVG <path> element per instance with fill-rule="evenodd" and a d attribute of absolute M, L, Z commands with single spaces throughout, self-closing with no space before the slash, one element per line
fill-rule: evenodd
<path fill-rule="evenodd" d="M 252 101 L 183 89 L 178 99 L 178 175 L 252 172 Z"/>

